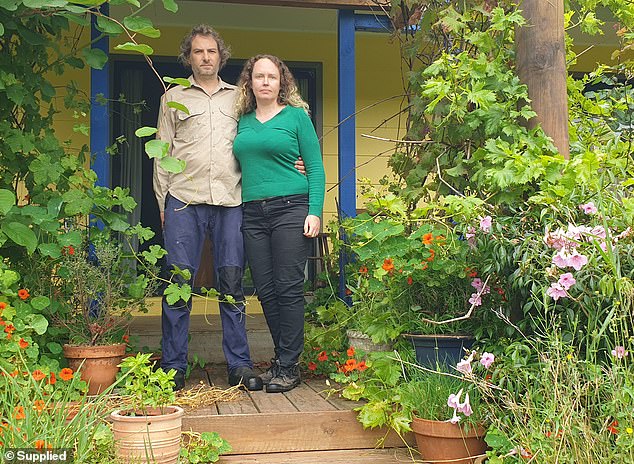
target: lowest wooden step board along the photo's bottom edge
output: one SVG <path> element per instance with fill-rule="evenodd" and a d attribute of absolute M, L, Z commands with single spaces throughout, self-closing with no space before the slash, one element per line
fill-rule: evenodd
<path fill-rule="evenodd" d="M 390 448 L 222 456 L 218 464 L 368 464 L 370 462 L 372 464 L 402 464 L 423 461 L 412 460 L 405 448 Z"/>

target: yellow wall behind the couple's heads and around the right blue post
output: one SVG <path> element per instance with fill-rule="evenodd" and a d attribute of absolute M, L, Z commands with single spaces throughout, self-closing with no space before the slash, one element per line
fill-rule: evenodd
<path fill-rule="evenodd" d="M 323 155 L 326 167 L 326 202 L 324 219 L 330 220 L 336 212 L 337 195 L 337 37 L 328 33 L 246 31 L 217 27 L 225 42 L 231 45 L 232 58 L 246 59 L 258 53 L 277 55 L 286 61 L 320 62 L 323 66 Z M 160 39 L 148 40 L 156 55 L 175 56 L 186 27 L 162 27 Z M 116 44 L 112 44 L 114 47 Z M 398 47 L 384 34 L 358 33 L 357 111 L 378 101 L 402 93 Z M 113 52 L 116 52 L 113 49 Z M 220 73 L 222 75 L 222 72 Z M 357 163 L 362 165 L 357 177 L 378 179 L 387 172 L 386 157 L 373 159 L 388 150 L 391 144 L 363 138 L 375 130 L 386 115 L 398 112 L 399 100 L 375 106 L 357 115 Z M 395 138 L 397 120 L 376 130 L 373 135 Z M 359 202 L 359 206 L 361 202 Z"/>

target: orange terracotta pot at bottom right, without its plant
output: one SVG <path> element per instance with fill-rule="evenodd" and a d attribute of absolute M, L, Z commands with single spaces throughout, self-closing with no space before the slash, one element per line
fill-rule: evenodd
<path fill-rule="evenodd" d="M 424 462 L 474 464 L 487 449 L 483 427 L 470 427 L 467 431 L 458 424 L 418 417 L 412 420 L 411 426 Z"/>

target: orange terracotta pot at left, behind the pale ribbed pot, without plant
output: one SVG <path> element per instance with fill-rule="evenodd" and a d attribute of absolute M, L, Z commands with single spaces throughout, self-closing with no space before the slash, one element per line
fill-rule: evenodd
<path fill-rule="evenodd" d="M 68 366 L 81 373 L 88 394 L 96 395 L 112 385 L 125 356 L 125 343 L 106 346 L 64 345 Z M 83 364 L 82 364 L 83 363 Z M 81 368 L 81 369 L 80 369 Z"/>

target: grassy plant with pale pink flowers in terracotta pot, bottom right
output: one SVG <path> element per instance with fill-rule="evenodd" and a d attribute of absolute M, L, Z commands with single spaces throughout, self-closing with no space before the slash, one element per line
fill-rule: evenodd
<path fill-rule="evenodd" d="M 401 350 L 405 358 L 413 353 Z M 479 391 L 472 388 L 475 358 L 488 368 L 493 356 L 484 353 L 458 363 L 453 371 L 434 371 L 403 361 L 401 355 L 369 355 L 361 382 L 351 382 L 343 396 L 365 400 L 357 410 L 366 428 L 390 427 L 405 440 L 413 432 L 424 461 L 473 464 L 487 446 Z M 460 370 L 459 370 L 460 369 Z"/>

